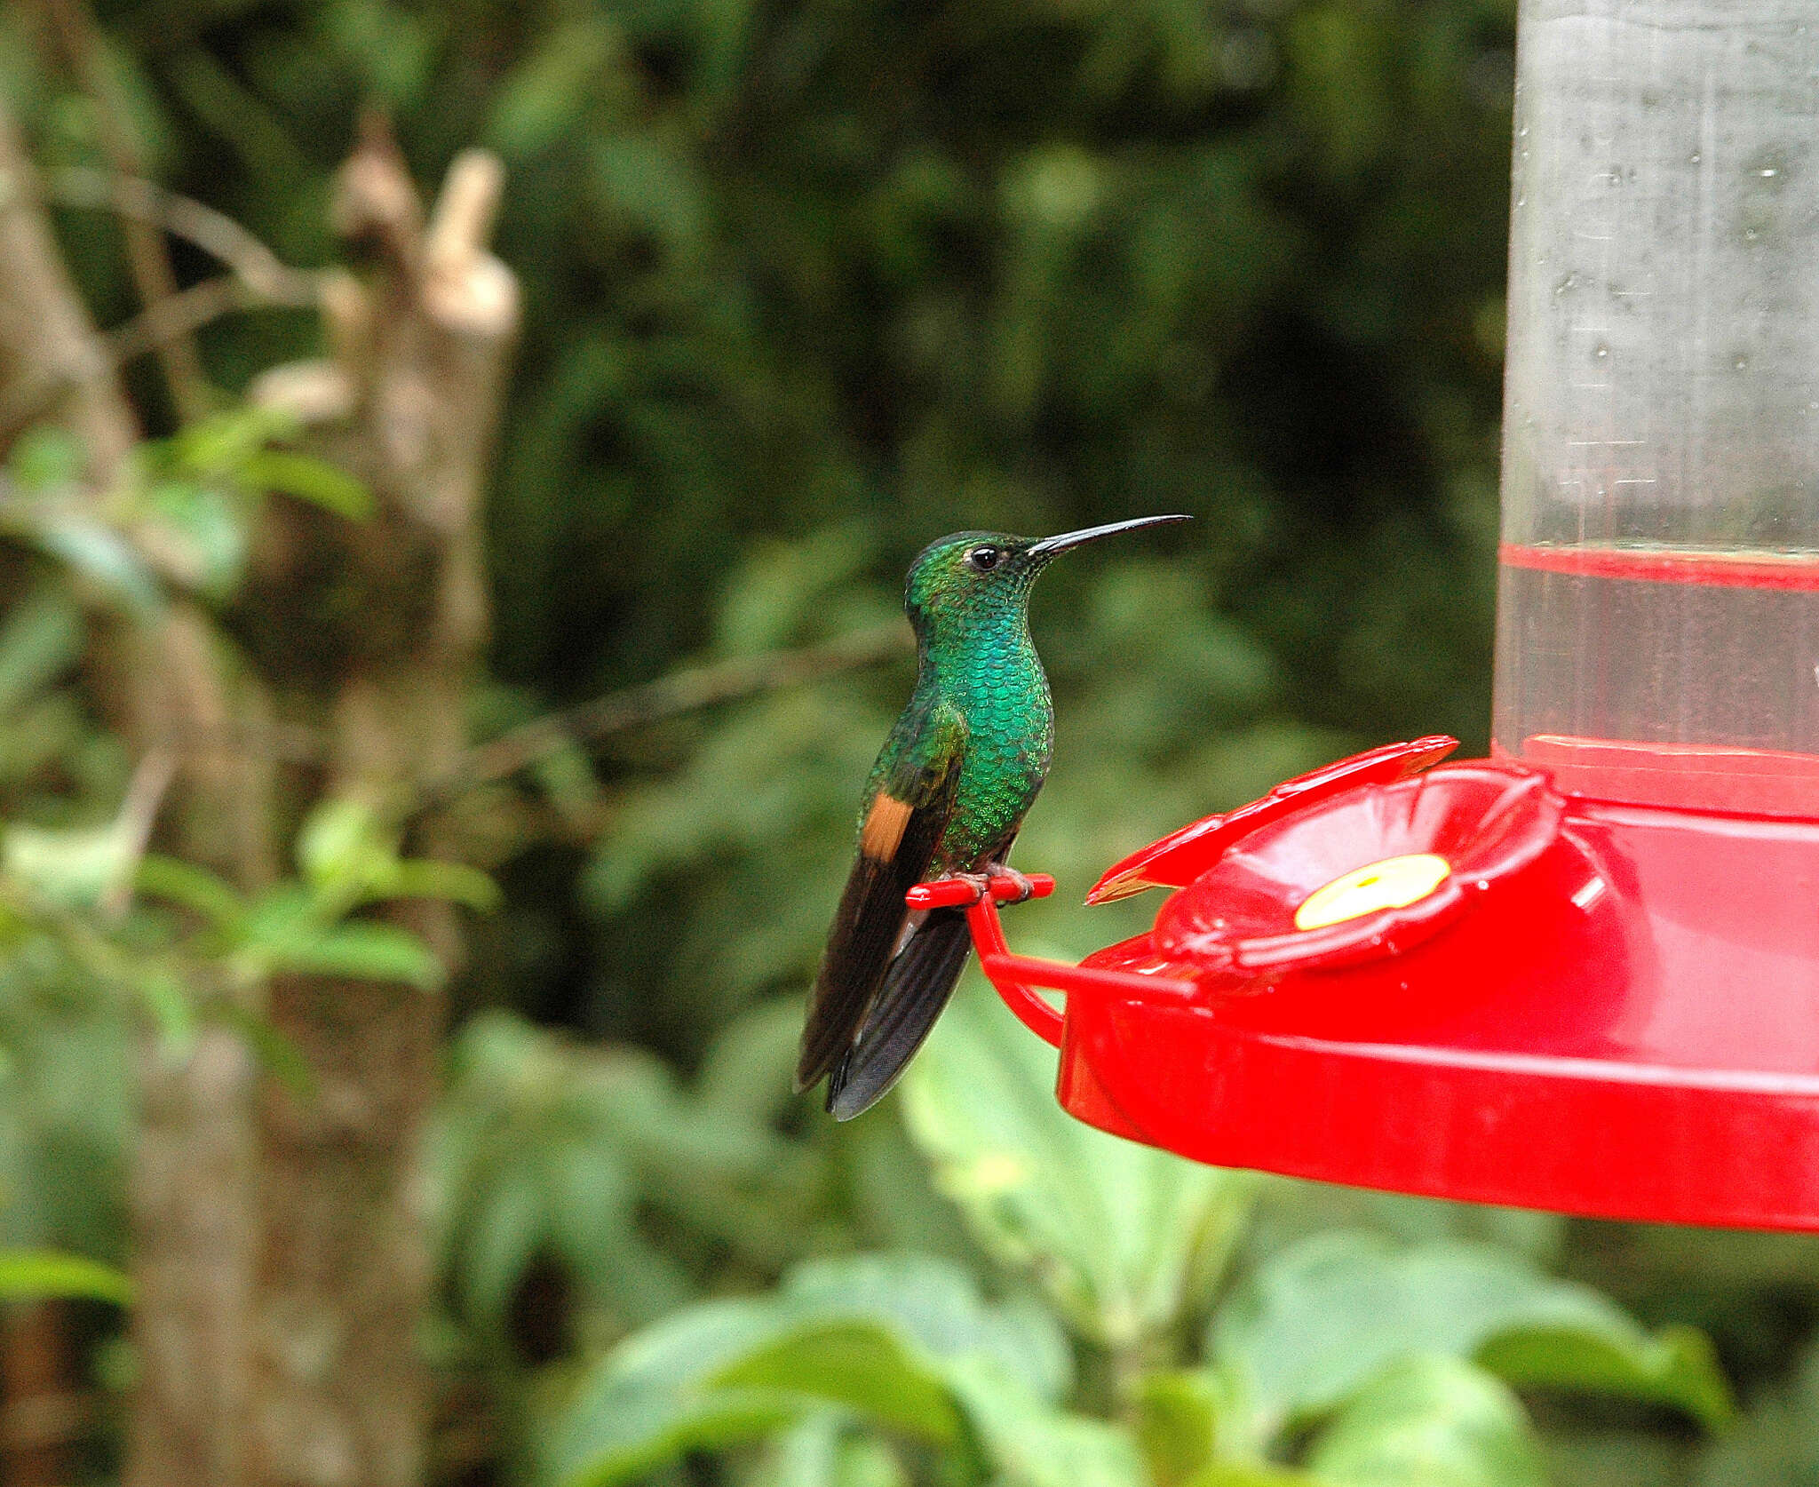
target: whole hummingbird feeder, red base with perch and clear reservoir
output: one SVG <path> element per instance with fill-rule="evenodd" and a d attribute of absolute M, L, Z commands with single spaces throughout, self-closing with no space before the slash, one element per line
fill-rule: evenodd
<path fill-rule="evenodd" d="M 1401 1192 L 1819 1229 L 1806 9 L 1524 0 L 1493 757 L 1393 744 L 1146 846 L 1090 901 L 1175 892 L 1080 966 L 1010 954 L 993 883 L 975 945 L 1082 1121 Z"/>

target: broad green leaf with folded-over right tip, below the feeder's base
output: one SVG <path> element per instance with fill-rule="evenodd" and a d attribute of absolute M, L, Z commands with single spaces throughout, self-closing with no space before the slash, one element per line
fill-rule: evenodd
<path fill-rule="evenodd" d="M 1508 1363 L 1513 1381 L 1643 1398 L 1708 1425 L 1730 1398 L 1710 1352 L 1679 1329 L 1652 1336 L 1595 1290 L 1462 1241 L 1402 1249 L 1335 1232 L 1295 1243 L 1221 1310 L 1208 1350 L 1244 1381 L 1264 1434 L 1419 1352 Z"/>

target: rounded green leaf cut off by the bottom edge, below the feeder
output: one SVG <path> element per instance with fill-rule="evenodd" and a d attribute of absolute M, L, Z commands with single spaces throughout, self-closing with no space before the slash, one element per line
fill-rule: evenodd
<path fill-rule="evenodd" d="M 1457 1358 L 1392 1365 L 1344 1407 L 1308 1452 L 1333 1487 L 1546 1487 L 1523 1405 Z"/>

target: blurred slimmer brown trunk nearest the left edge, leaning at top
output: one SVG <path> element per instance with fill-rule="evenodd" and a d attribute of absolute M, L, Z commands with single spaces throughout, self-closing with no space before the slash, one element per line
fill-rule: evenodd
<path fill-rule="evenodd" d="M 18 417 L 55 417 L 84 444 L 98 493 L 118 479 L 138 422 L 76 297 L 35 191 L 18 129 L 0 100 L 0 386 Z M 0 430 L 0 437 L 16 428 Z M 136 752 L 169 750 L 178 777 L 169 845 L 242 886 L 269 879 L 264 770 L 229 746 L 238 708 L 206 619 L 176 601 L 109 630 L 104 677 L 126 693 Z M 242 688 L 242 697 L 247 688 Z M 244 1392 L 251 1358 L 255 1145 L 253 1063 L 240 1039 L 207 1030 L 182 1063 L 147 1047 L 131 1178 L 133 1340 L 144 1381 L 129 1427 L 129 1483 L 244 1482 Z"/>

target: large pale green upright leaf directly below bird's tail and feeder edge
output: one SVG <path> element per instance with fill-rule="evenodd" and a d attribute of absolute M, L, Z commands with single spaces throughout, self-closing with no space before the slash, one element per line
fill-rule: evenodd
<path fill-rule="evenodd" d="M 1053 1050 L 977 986 L 948 1008 L 904 1090 L 910 1130 L 979 1241 L 1031 1269 L 1075 1327 L 1111 1347 L 1191 1310 L 1250 1212 L 1248 1174 L 1068 1116 Z"/>

